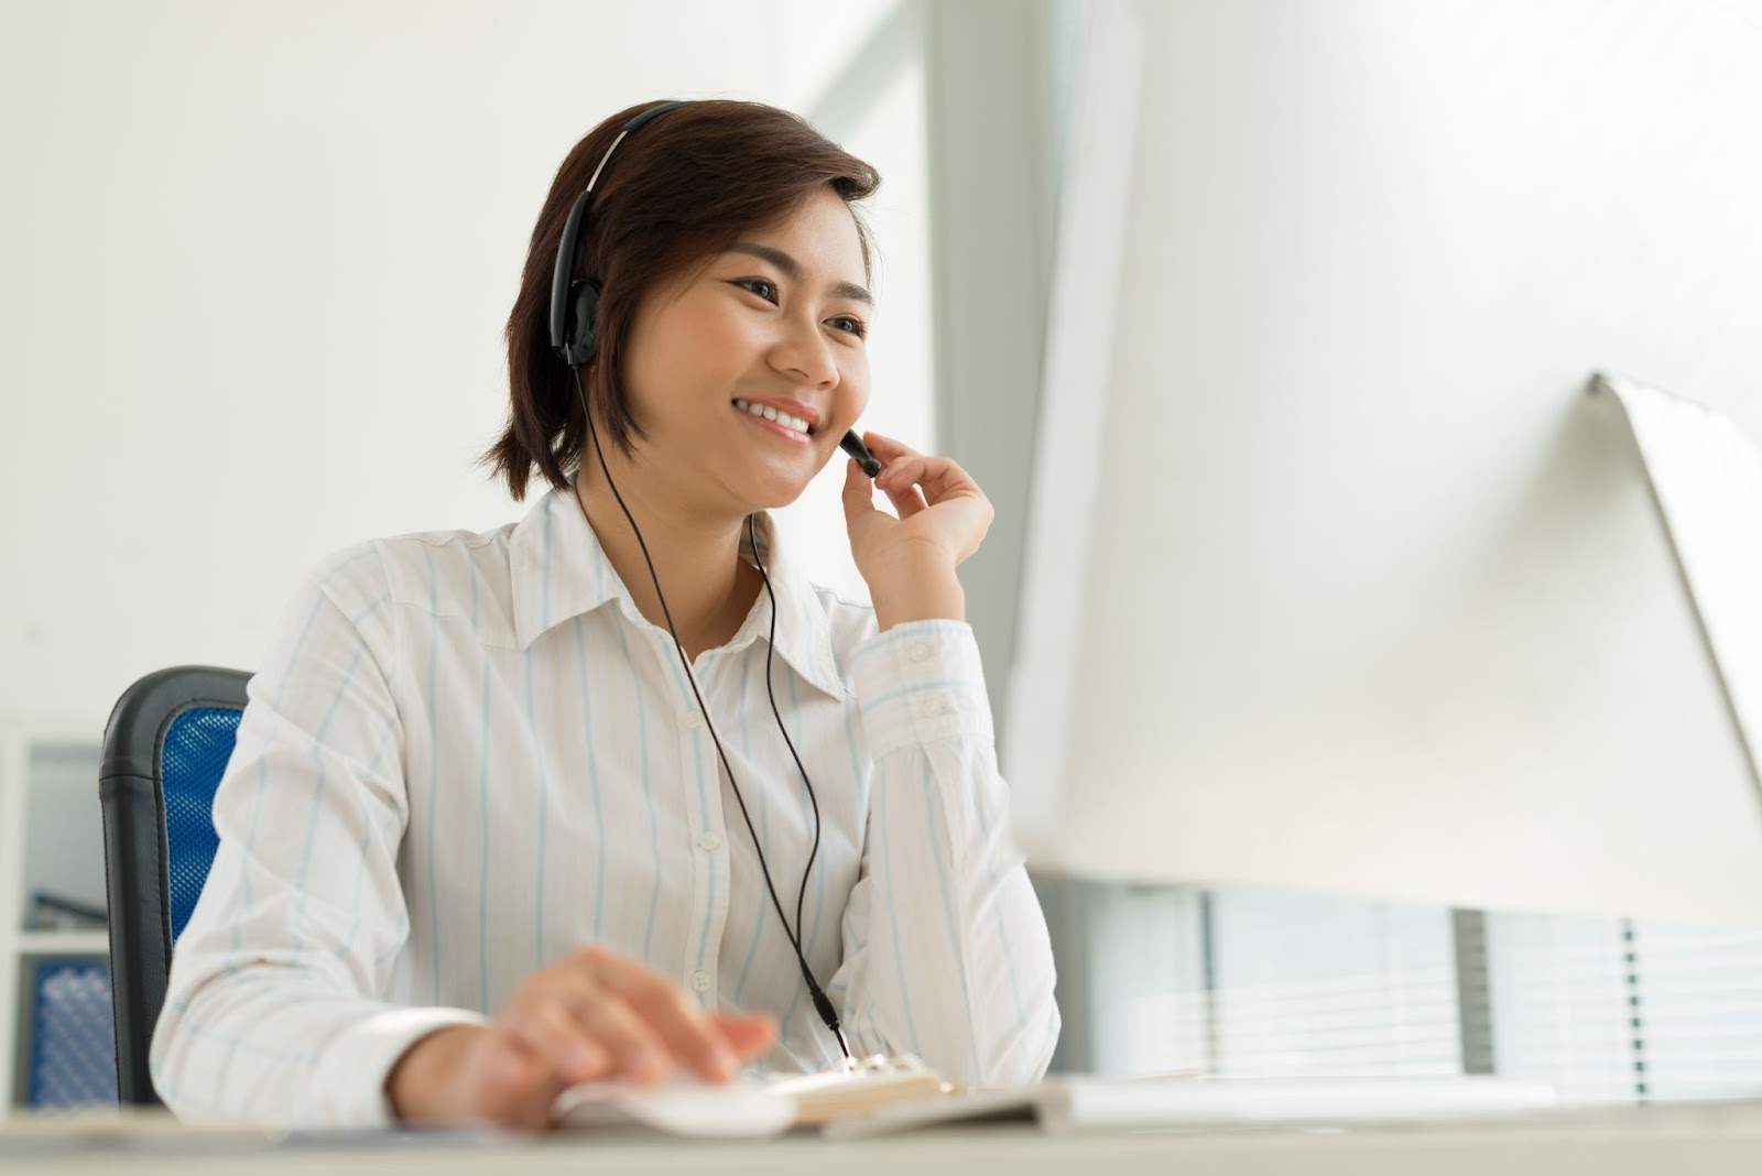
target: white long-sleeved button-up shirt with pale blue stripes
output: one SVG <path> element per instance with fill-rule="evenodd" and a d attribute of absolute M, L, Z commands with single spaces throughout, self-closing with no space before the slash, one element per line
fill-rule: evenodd
<path fill-rule="evenodd" d="M 823 820 L 809 963 L 858 1055 L 1031 1081 L 1059 1028 L 1052 954 L 973 630 L 877 634 L 761 523 L 772 683 Z M 766 699 L 768 623 L 761 592 L 692 673 L 793 922 L 812 815 Z M 589 944 L 705 1007 L 775 1014 L 768 1069 L 840 1056 L 673 641 L 571 491 L 518 525 L 319 565 L 250 681 L 213 817 L 153 1035 L 153 1083 L 181 1114 L 382 1123 L 405 1047 L 485 1023 Z"/>

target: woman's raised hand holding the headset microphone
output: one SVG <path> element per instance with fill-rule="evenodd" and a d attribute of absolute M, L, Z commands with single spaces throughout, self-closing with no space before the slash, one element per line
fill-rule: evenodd
<path fill-rule="evenodd" d="M 879 433 L 863 433 L 863 444 L 885 468 L 870 484 L 856 461 L 846 465 L 844 523 L 876 620 L 883 630 L 914 620 L 966 620 L 955 567 L 985 539 L 996 518 L 990 500 L 948 458 L 927 458 Z M 899 518 L 874 505 L 874 488 Z"/>

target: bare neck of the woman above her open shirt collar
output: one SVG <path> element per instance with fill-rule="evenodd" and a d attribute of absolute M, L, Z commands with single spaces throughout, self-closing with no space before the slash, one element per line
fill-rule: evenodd
<path fill-rule="evenodd" d="M 666 495 L 652 493 L 633 470 L 613 474 L 624 505 L 643 532 L 654 576 L 666 592 L 663 613 L 648 562 L 643 560 L 643 548 L 636 542 L 629 519 L 597 463 L 590 472 L 592 477 L 589 470 L 576 475 L 574 493 L 636 609 L 661 628 L 668 627 L 670 613 L 691 660 L 705 650 L 728 644 L 752 609 L 761 583 L 758 569 L 740 558 L 745 518 L 708 518 Z"/>

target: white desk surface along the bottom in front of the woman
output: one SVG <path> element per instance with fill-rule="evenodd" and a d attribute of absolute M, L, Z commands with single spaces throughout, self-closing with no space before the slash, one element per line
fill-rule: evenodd
<path fill-rule="evenodd" d="M 210 1172 L 763 1172 L 786 1176 L 1031 1176 L 1170 1172 L 1177 1176 L 1755 1176 L 1762 1104 L 1651 1107 L 1522 1121 L 1357 1128 L 1045 1136 L 1025 1125 L 943 1128 L 830 1143 L 553 1136 L 530 1141 L 389 1137 L 379 1143 L 243 1144 L 159 1136 L 132 1146 L 69 1146 L 0 1127 L 0 1172 L 62 1176 L 206 1176 Z"/>

